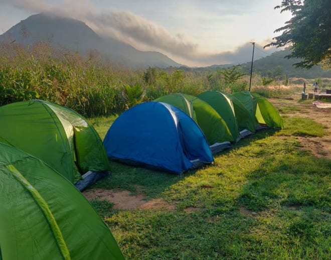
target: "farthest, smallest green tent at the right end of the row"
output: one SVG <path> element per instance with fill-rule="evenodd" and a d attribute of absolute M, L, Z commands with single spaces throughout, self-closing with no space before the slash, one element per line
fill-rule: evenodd
<path fill-rule="evenodd" d="M 233 95 L 244 104 L 251 114 L 255 115 L 260 125 L 275 128 L 283 127 L 277 109 L 263 96 L 249 91 L 237 92 Z"/>

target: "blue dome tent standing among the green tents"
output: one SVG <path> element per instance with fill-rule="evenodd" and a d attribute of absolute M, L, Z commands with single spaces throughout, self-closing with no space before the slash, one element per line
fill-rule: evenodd
<path fill-rule="evenodd" d="M 214 161 L 196 122 L 162 102 L 141 103 L 122 113 L 103 144 L 110 159 L 177 174 Z"/>

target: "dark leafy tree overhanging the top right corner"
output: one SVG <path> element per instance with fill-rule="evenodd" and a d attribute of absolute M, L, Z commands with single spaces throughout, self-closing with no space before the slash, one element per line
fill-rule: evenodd
<path fill-rule="evenodd" d="M 289 46 L 291 53 L 285 58 L 302 59 L 293 64 L 296 67 L 309 69 L 323 64 L 331 68 L 331 1 L 283 0 L 275 9 L 281 9 L 280 13 L 290 11 L 292 18 L 274 31 L 282 34 L 264 48 Z"/>

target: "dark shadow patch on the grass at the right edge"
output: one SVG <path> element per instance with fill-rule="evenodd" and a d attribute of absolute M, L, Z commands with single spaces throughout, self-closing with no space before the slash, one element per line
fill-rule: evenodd
<path fill-rule="evenodd" d="M 247 174 L 239 204 L 261 211 L 278 206 L 313 206 L 331 212 L 329 160 L 304 155 L 271 156 L 259 169 Z"/>

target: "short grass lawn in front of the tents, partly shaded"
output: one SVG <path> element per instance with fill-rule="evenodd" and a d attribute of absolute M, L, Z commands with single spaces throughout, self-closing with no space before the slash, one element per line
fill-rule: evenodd
<path fill-rule="evenodd" d="M 294 98 L 274 100 L 284 129 L 241 140 L 213 165 L 178 176 L 110 162 L 112 175 L 85 195 L 124 256 L 329 259 L 331 160 L 301 140 L 330 140 L 330 125 L 314 119 L 311 101 Z M 114 119 L 90 121 L 103 138 Z"/>

